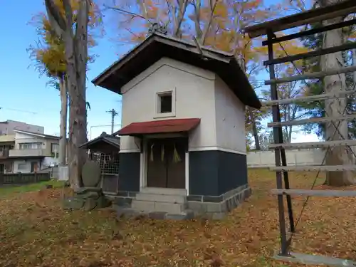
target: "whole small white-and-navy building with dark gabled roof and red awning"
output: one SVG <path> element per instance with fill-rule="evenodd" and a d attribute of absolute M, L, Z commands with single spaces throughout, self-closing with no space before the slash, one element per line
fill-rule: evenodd
<path fill-rule="evenodd" d="M 154 33 L 93 83 L 122 95 L 120 211 L 218 219 L 251 194 L 245 107 L 261 103 L 232 54 Z"/>

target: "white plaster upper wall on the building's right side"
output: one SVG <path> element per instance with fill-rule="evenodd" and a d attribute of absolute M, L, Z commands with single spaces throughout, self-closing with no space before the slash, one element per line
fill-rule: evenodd
<path fill-rule="evenodd" d="M 219 77 L 215 80 L 215 113 L 217 147 L 246 153 L 245 105 Z"/>

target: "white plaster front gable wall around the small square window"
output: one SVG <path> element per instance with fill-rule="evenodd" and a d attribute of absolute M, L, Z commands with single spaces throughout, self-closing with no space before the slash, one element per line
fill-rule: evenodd
<path fill-rule="evenodd" d="M 189 149 L 216 147 L 216 75 L 170 58 L 162 58 L 122 88 L 122 127 L 131 122 L 198 117 Z M 175 116 L 156 117 L 157 93 L 175 89 Z M 139 140 L 121 137 L 120 152 L 139 151 Z"/>

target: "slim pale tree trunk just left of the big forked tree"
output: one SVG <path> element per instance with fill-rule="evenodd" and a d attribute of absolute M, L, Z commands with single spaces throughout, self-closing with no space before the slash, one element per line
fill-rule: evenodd
<path fill-rule="evenodd" d="M 61 139 L 59 140 L 58 165 L 66 166 L 68 90 L 65 77 L 59 78 L 59 92 L 61 96 Z"/>

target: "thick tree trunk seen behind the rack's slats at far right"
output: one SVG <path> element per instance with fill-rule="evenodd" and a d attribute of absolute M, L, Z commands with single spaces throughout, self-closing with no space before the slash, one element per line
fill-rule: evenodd
<path fill-rule="evenodd" d="M 335 4 L 337 0 L 323 0 L 320 1 L 321 6 L 327 6 L 330 4 Z M 330 19 L 324 21 L 324 25 L 329 25 L 333 23 L 339 23 L 342 18 Z M 344 36 L 342 29 L 337 29 L 333 31 L 327 31 L 324 35 L 323 48 L 330 48 L 333 46 L 340 46 L 344 43 Z M 343 67 L 342 53 L 332 53 L 321 57 L 321 69 L 334 69 Z M 346 80 L 345 74 L 331 75 L 324 78 L 325 93 L 333 93 L 340 90 L 346 90 Z M 325 112 L 327 116 L 338 117 L 342 115 L 345 110 L 347 103 L 346 98 L 325 100 Z M 335 126 L 339 122 L 334 122 Z M 343 140 L 347 139 L 347 121 L 344 120 L 340 122 L 338 127 L 335 127 L 332 123 L 328 123 L 325 129 L 326 140 Z M 335 132 L 336 131 L 336 132 Z M 335 147 L 333 150 L 329 150 L 328 156 L 326 158 L 326 164 L 328 165 L 347 165 L 352 164 L 352 155 L 350 154 L 347 147 Z M 351 171 L 343 172 L 327 172 L 326 183 L 331 186 L 344 186 L 355 184 L 355 179 Z"/>

